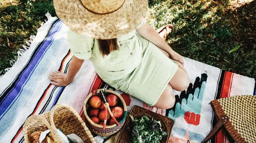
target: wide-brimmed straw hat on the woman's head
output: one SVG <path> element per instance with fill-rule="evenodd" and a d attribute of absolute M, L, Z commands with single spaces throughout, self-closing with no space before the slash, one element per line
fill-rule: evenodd
<path fill-rule="evenodd" d="M 112 39 L 142 25 L 147 0 L 53 0 L 58 17 L 74 32 L 95 39 Z"/>

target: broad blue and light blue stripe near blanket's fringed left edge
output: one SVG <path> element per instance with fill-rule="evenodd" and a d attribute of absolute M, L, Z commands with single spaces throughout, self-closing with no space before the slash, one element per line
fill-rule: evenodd
<path fill-rule="evenodd" d="M 10 86 L 12 89 L 9 89 L 10 92 L 6 94 L 0 105 L 0 125 L 3 125 L 0 129 L 0 138 L 12 124 L 13 120 L 10 119 L 15 119 L 19 107 L 23 107 L 23 104 L 25 104 L 29 96 L 31 96 L 37 80 L 44 74 L 44 69 L 48 67 L 48 64 L 52 60 L 49 57 L 54 57 L 59 50 L 64 39 L 53 39 L 56 36 L 56 33 L 60 30 L 62 24 L 63 23 L 59 19 L 56 19 L 52 23 L 52 28 L 41 42 L 42 44 L 38 45 L 40 47 L 34 51 L 34 56 L 30 57 L 28 64 L 25 66 L 26 68 L 23 68 L 23 72 L 18 76 L 19 79 L 17 82 L 13 82 L 16 84 Z M 48 52 L 47 50 L 52 44 L 54 46 L 52 46 L 51 51 Z"/>

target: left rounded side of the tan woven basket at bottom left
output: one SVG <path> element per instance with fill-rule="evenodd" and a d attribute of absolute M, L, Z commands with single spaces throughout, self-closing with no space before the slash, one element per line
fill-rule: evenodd
<path fill-rule="evenodd" d="M 40 134 L 51 128 L 48 122 L 49 115 L 49 112 L 46 112 L 41 115 L 28 117 L 23 125 L 23 134 L 26 143 L 39 143 Z"/>

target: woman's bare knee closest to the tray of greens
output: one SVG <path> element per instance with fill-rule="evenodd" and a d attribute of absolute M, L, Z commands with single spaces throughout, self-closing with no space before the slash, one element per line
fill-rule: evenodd
<path fill-rule="evenodd" d="M 174 103 L 175 96 L 173 94 L 172 87 L 168 84 L 154 107 L 161 109 L 170 109 L 174 106 Z"/>

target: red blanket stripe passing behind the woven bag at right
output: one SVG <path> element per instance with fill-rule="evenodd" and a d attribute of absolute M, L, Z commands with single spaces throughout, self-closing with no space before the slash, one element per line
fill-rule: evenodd
<path fill-rule="evenodd" d="M 225 72 L 223 84 L 221 88 L 220 98 L 226 98 L 230 96 L 230 90 L 232 87 L 234 73 Z M 215 143 L 226 143 L 226 136 L 223 129 L 221 129 L 215 136 Z"/>

